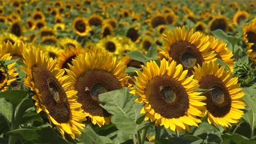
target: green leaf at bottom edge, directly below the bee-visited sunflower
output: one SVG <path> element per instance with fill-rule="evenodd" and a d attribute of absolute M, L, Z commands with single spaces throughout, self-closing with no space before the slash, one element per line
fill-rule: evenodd
<path fill-rule="evenodd" d="M 78 139 L 84 143 L 88 144 L 105 144 L 105 143 L 113 143 L 108 137 L 100 136 L 95 133 L 95 131 L 90 127 L 90 125 L 86 125 L 86 128 L 81 131 L 81 136 Z"/>

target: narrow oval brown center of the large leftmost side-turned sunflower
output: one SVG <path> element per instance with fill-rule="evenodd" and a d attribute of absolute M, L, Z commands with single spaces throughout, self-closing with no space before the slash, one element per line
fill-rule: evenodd
<path fill-rule="evenodd" d="M 40 66 L 32 67 L 34 87 L 40 94 L 40 103 L 50 112 L 58 123 L 67 123 L 71 117 L 70 106 L 66 92 L 60 82 L 51 72 Z"/>

